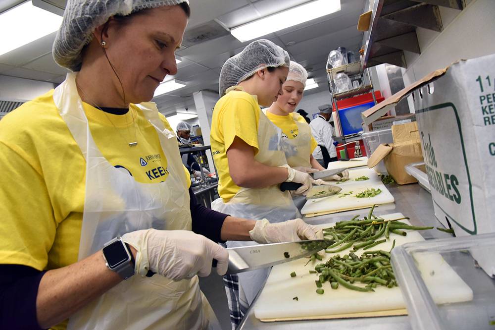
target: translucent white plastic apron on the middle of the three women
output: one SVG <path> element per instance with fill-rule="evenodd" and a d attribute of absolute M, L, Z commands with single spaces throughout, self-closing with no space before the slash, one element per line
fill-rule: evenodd
<path fill-rule="evenodd" d="M 236 87 L 237 89 L 237 87 Z M 232 90 L 228 89 L 227 93 Z M 258 153 L 254 159 L 268 166 L 280 166 L 287 164 L 284 152 L 280 146 L 282 130 L 275 126 L 266 115 L 260 111 L 258 123 Z M 233 217 L 261 220 L 270 222 L 282 222 L 300 217 L 291 194 L 282 192 L 280 185 L 276 184 L 265 188 L 244 188 L 224 203 L 218 198 L 211 203 L 211 208 L 218 212 L 229 214 Z M 255 242 L 228 241 L 227 247 L 257 245 Z M 247 302 L 252 303 L 257 292 L 268 276 L 269 269 L 261 269 L 238 274 L 239 289 L 244 290 Z"/>

